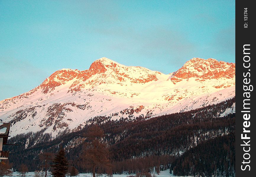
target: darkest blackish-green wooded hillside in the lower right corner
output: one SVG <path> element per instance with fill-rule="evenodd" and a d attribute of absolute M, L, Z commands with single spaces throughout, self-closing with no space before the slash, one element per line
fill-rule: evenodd
<path fill-rule="evenodd" d="M 235 176 L 235 135 L 223 135 L 186 151 L 171 163 L 177 176 Z"/>

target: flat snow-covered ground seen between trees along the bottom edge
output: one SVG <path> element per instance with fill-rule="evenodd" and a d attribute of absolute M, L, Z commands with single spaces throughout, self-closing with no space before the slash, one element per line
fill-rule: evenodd
<path fill-rule="evenodd" d="M 154 173 L 152 173 L 153 175 Z M 12 174 L 12 176 L 19 176 L 19 173 L 17 172 L 14 172 Z M 26 174 L 26 176 L 34 176 L 34 172 L 29 172 Z M 50 176 L 50 175 L 49 175 Z M 121 174 L 121 175 L 113 175 L 113 177 L 127 177 L 129 175 L 125 175 L 125 174 Z M 165 170 L 165 171 L 161 171 L 160 175 L 157 175 L 155 174 L 156 177 L 173 177 L 174 175 L 173 174 L 170 174 L 169 173 L 169 169 L 168 170 Z M 91 173 L 80 173 L 79 174 L 79 177 L 92 177 L 92 174 Z M 180 177 L 184 177 L 184 176 L 180 176 Z M 188 177 L 191 177 L 191 176 L 188 176 Z"/>

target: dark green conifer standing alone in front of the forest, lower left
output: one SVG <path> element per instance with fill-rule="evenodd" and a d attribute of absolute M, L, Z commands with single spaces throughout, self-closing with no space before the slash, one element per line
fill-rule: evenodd
<path fill-rule="evenodd" d="M 64 177 L 68 171 L 68 161 L 64 149 L 60 149 L 53 159 L 53 177 Z"/>

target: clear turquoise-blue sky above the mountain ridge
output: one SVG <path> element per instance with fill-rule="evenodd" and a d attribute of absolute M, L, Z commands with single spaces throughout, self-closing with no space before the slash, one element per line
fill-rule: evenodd
<path fill-rule="evenodd" d="M 235 62 L 235 1 L 0 1 L 0 100 L 107 57 L 165 74 Z"/>

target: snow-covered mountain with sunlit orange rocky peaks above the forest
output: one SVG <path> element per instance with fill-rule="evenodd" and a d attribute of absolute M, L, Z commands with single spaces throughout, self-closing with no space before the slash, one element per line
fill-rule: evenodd
<path fill-rule="evenodd" d="M 31 91 L 0 101 L 0 119 L 12 123 L 12 136 L 44 127 L 57 134 L 97 116 L 150 118 L 234 96 L 234 63 L 192 58 L 166 75 L 100 58 L 88 70 L 61 69 Z"/>

